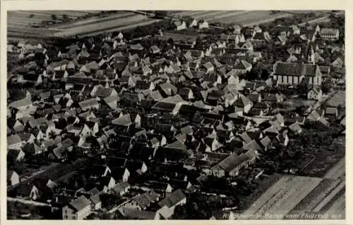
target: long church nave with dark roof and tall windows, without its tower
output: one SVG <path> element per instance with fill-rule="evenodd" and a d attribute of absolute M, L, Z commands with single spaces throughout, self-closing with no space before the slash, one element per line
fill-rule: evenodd
<path fill-rule="evenodd" d="M 322 74 L 318 65 L 282 62 L 273 65 L 273 79 L 277 84 L 299 84 L 304 77 L 309 84 L 321 85 Z"/>

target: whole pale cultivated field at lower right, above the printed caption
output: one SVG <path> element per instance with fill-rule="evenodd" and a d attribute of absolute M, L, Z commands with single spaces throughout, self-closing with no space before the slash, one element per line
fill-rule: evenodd
<path fill-rule="evenodd" d="M 285 215 L 321 181 L 321 178 L 307 176 L 282 176 L 244 212 L 244 215 L 254 215 L 254 218 L 248 219 L 284 219 Z M 265 215 L 268 214 L 275 215 L 276 218 L 266 218 Z"/>

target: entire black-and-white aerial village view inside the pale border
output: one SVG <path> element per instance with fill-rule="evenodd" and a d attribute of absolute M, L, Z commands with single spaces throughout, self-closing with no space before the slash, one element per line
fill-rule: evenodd
<path fill-rule="evenodd" d="M 345 11 L 7 11 L 7 219 L 345 219 Z"/>

